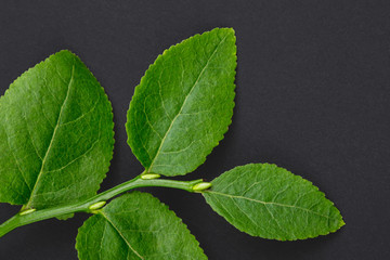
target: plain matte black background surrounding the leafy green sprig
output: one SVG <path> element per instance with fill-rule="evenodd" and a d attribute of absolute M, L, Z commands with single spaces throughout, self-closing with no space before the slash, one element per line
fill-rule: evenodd
<path fill-rule="evenodd" d="M 389 259 L 389 3 L 2 0 L 0 90 L 51 53 L 77 53 L 114 106 L 116 145 L 105 190 L 142 170 L 123 125 L 148 65 L 194 34 L 233 27 L 233 123 L 206 164 L 184 179 L 274 162 L 324 191 L 347 225 L 309 240 L 266 240 L 230 226 L 199 195 L 147 191 L 183 219 L 210 259 Z M 17 210 L 1 205 L 0 221 Z M 75 237 L 86 219 L 17 229 L 0 239 L 0 259 L 77 259 Z"/>

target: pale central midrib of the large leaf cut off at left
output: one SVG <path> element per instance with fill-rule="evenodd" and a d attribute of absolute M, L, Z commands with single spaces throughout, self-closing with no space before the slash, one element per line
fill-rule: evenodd
<path fill-rule="evenodd" d="M 31 202 L 32 202 L 32 198 L 34 198 L 34 196 L 35 196 L 35 194 L 36 194 L 37 186 L 38 186 L 39 181 L 40 181 L 40 179 L 41 179 L 41 176 L 42 176 L 42 173 L 43 173 L 43 168 L 44 168 L 46 160 L 47 160 L 47 158 L 48 158 L 48 155 L 50 154 L 50 151 L 51 151 L 53 141 L 54 141 L 54 139 L 55 139 L 57 129 L 58 129 L 58 127 L 60 127 L 60 122 L 61 122 L 61 118 L 62 118 L 62 115 L 63 115 L 63 110 L 64 110 L 65 104 L 66 104 L 66 102 L 67 102 L 67 100 L 68 100 L 68 96 L 69 96 L 69 93 L 70 93 L 70 87 L 72 87 L 73 81 L 74 81 L 74 76 L 75 76 L 75 64 L 74 64 L 73 67 L 72 67 L 72 74 L 70 74 L 70 79 L 69 79 L 68 86 L 67 86 L 66 96 L 65 96 L 65 99 L 64 99 L 63 104 L 61 105 L 58 118 L 57 118 L 57 121 L 56 121 L 56 123 L 55 123 L 55 127 L 54 127 L 54 130 L 53 130 L 53 134 L 52 134 L 51 140 L 50 140 L 50 144 L 49 144 L 48 150 L 47 150 L 47 152 L 46 152 L 46 154 L 44 154 L 44 157 L 43 157 L 43 159 L 42 159 L 41 168 L 40 168 L 40 170 L 39 170 L 39 173 L 38 173 L 38 177 L 37 177 L 37 180 L 36 180 L 35 184 L 34 184 L 34 187 L 32 187 L 32 190 L 31 190 L 30 197 L 28 198 L 28 202 L 27 202 L 27 204 L 26 204 L 26 206 L 25 206 L 24 208 L 29 208 L 29 207 L 30 207 Z"/>

